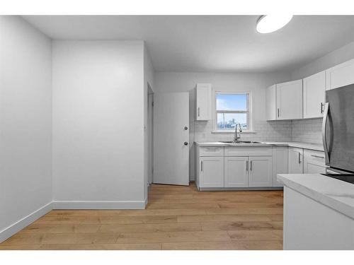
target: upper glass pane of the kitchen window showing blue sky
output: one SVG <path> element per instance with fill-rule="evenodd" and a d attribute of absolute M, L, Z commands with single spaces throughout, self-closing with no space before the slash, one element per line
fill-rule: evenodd
<path fill-rule="evenodd" d="M 217 94 L 217 110 L 247 110 L 247 94 Z"/>

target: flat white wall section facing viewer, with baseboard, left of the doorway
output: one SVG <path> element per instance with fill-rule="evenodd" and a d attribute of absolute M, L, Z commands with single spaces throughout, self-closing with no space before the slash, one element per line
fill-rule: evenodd
<path fill-rule="evenodd" d="M 55 207 L 144 207 L 144 42 L 53 41 Z"/>

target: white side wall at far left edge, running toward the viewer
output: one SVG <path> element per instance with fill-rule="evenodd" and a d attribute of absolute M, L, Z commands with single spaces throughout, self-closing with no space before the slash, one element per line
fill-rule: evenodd
<path fill-rule="evenodd" d="M 50 39 L 16 16 L 0 33 L 1 242 L 52 201 L 52 90 Z"/>

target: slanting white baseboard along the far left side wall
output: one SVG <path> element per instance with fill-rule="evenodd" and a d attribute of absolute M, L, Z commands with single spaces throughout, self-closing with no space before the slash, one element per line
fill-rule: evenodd
<path fill-rule="evenodd" d="M 50 212 L 51 210 L 52 210 L 52 202 L 46 204 L 45 206 L 42 206 L 37 211 L 30 213 L 28 216 L 23 217 L 21 220 L 18 220 L 16 223 L 13 223 L 12 225 L 5 228 L 4 230 L 1 230 L 0 243 L 7 240 L 8 237 L 11 237 L 12 235 L 16 234 L 16 232 L 30 225 L 35 220 L 44 216 L 46 213 Z"/>

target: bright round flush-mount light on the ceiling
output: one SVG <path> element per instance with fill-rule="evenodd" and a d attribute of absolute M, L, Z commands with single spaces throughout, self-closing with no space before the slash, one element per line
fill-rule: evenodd
<path fill-rule="evenodd" d="M 292 19 L 292 15 L 265 15 L 257 20 L 256 29 L 258 33 L 273 33 L 275 30 L 287 25 Z"/>

